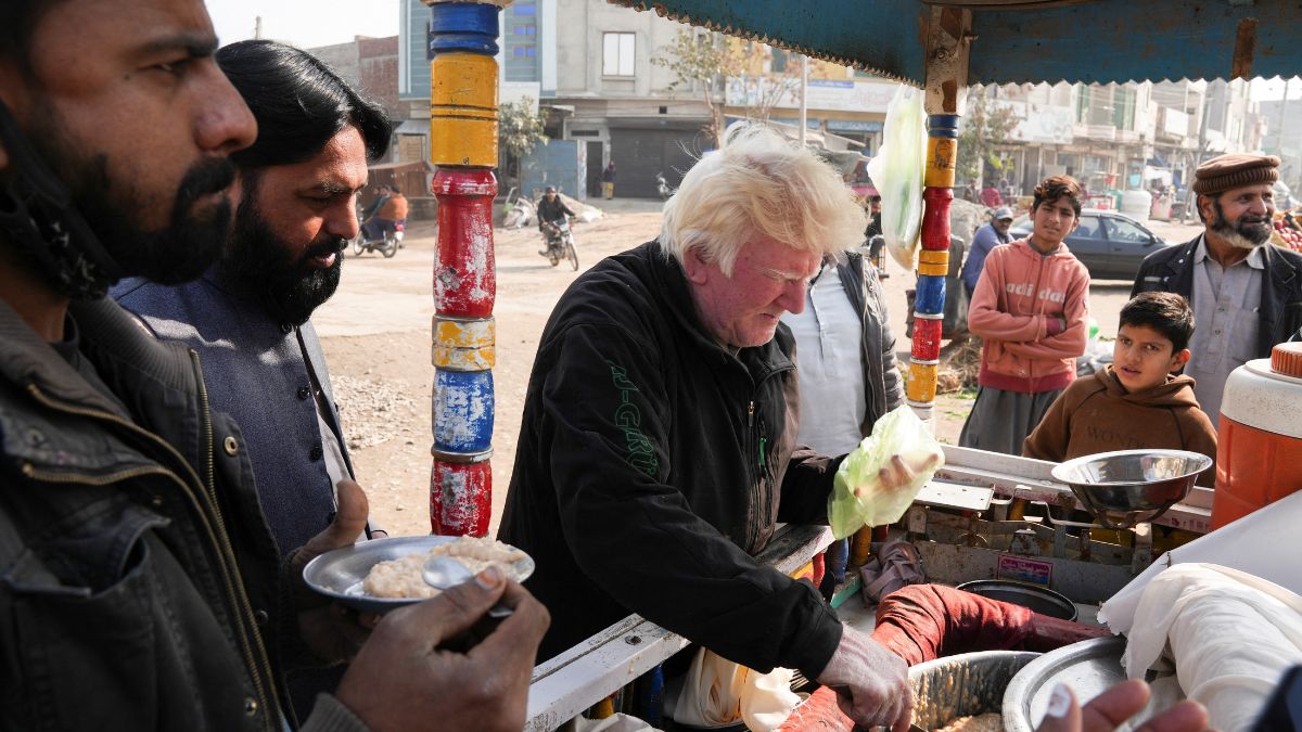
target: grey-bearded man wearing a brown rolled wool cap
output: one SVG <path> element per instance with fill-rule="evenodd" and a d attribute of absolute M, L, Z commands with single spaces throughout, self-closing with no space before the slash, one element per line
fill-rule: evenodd
<path fill-rule="evenodd" d="M 1302 328 L 1302 255 L 1269 244 L 1279 165 L 1273 155 L 1242 154 L 1199 165 L 1194 193 L 1203 233 L 1150 254 L 1130 292 L 1189 298 L 1198 327 L 1185 374 L 1197 380 L 1194 395 L 1213 423 L 1229 373 Z"/>

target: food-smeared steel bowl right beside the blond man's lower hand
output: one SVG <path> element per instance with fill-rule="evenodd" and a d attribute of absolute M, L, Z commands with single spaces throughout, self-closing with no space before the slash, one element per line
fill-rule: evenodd
<path fill-rule="evenodd" d="M 1040 654 L 978 651 L 937 658 L 909 668 L 913 724 L 936 729 L 958 716 L 999 712 L 1013 676 Z"/>

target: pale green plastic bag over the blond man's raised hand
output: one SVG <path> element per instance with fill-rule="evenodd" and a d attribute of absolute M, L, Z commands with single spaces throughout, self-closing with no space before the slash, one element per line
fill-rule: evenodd
<path fill-rule="evenodd" d="M 915 472 L 906 486 L 887 490 L 878 473 L 898 455 Z M 935 460 L 930 468 L 928 460 Z M 913 499 L 945 464 L 945 452 L 922 419 L 907 405 L 897 406 L 872 426 L 872 434 L 845 456 L 836 470 L 832 495 L 827 499 L 827 522 L 832 534 L 844 539 L 861 526 L 893 524 L 909 511 Z"/>

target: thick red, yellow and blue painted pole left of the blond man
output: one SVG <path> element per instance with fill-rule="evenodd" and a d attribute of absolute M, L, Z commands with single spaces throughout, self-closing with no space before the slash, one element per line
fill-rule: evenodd
<path fill-rule="evenodd" d="M 497 195 L 497 3 L 430 5 L 434 263 L 430 529 L 488 533 L 496 336 L 492 201 Z"/>

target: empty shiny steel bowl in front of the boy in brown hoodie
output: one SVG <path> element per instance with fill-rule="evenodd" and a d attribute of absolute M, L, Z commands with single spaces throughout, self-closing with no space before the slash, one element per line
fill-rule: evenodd
<path fill-rule="evenodd" d="M 1068 460 L 1052 474 L 1099 524 L 1129 529 L 1184 500 L 1211 465 L 1211 457 L 1182 449 L 1124 449 Z"/>

